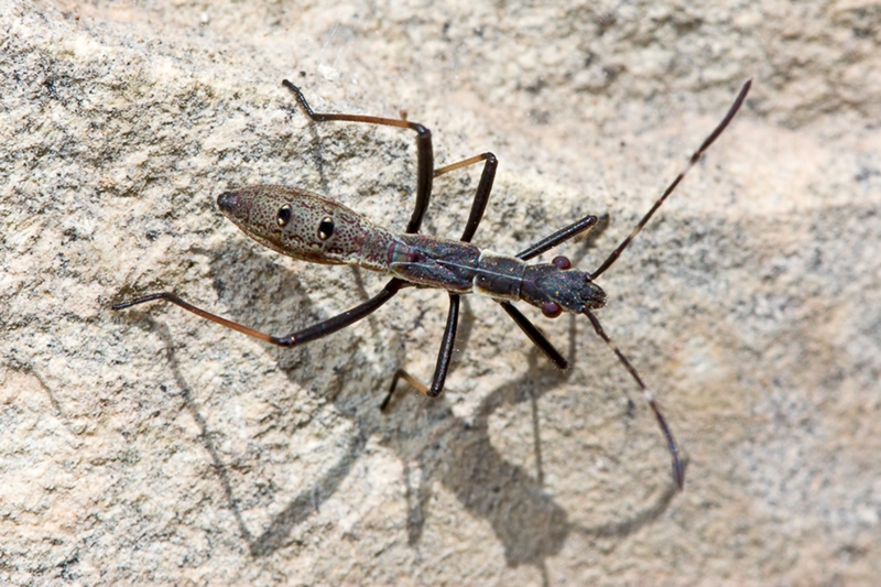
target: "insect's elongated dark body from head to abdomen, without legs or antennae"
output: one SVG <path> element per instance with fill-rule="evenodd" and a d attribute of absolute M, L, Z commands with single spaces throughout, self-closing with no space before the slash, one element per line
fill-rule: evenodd
<path fill-rule="evenodd" d="M 302 261 L 355 264 L 420 287 L 523 301 L 545 314 L 554 314 L 556 307 L 580 313 L 606 305 L 606 293 L 590 274 L 565 263 L 530 265 L 469 242 L 394 233 L 296 187 L 243 187 L 220 194 L 217 205 L 252 239 Z"/>

